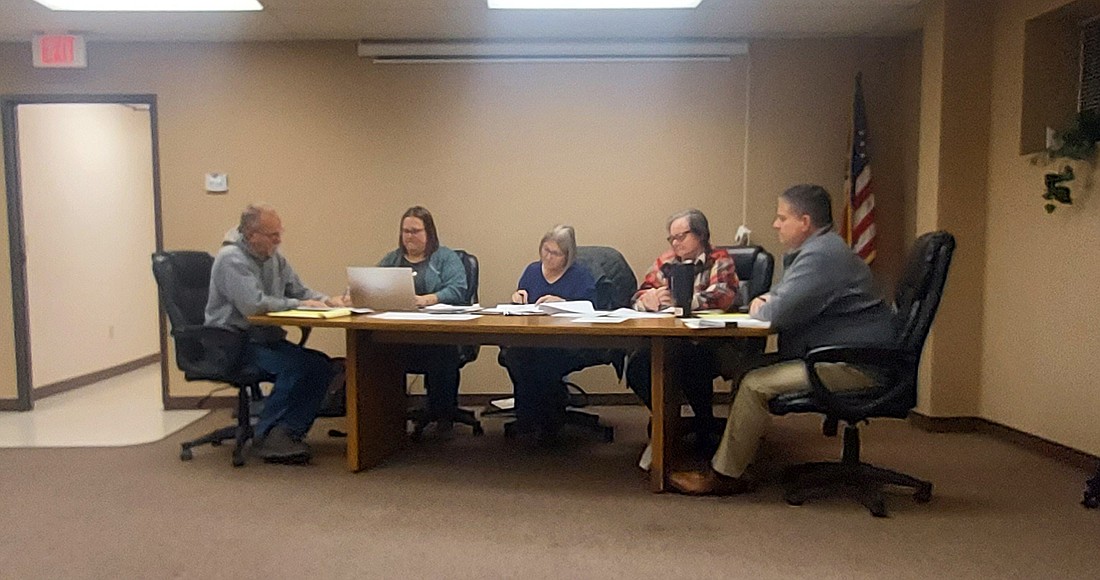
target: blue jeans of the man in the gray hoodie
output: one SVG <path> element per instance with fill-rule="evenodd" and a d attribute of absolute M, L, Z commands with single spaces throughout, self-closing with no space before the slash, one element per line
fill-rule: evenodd
<path fill-rule="evenodd" d="M 292 437 L 305 437 L 333 376 L 329 358 L 286 340 L 250 342 L 246 355 L 249 362 L 275 376 L 275 390 L 264 401 L 256 437 L 266 436 L 276 425 Z"/>

